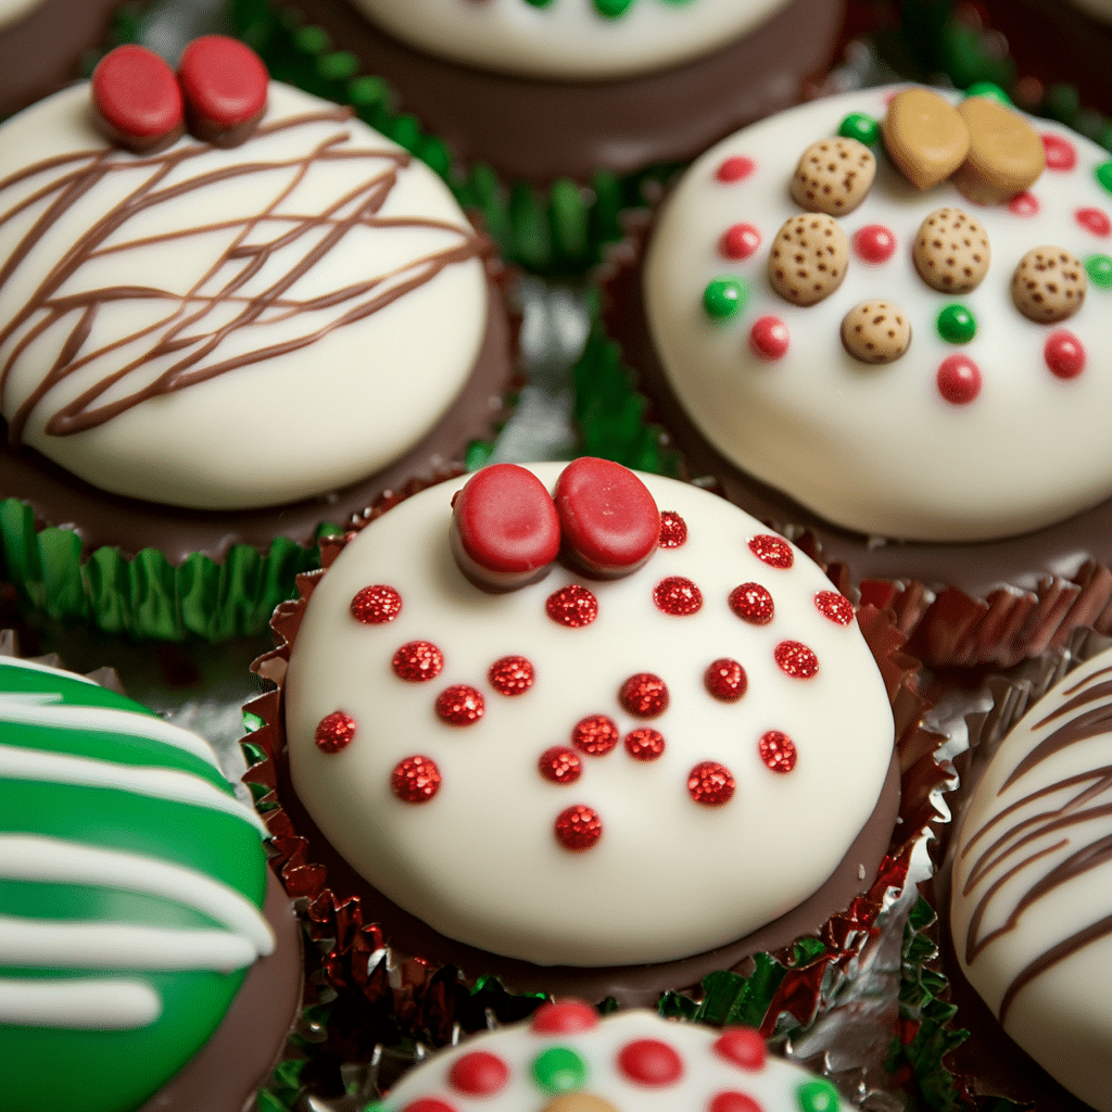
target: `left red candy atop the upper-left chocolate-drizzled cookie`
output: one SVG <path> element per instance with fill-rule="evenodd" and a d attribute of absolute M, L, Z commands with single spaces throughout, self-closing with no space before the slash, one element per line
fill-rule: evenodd
<path fill-rule="evenodd" d="M 173 70 L 146 47 L 117 47 L 92 73 L 100 130 L 137 153 L 169 147 L 185 130 L 181 89 Z"/>

